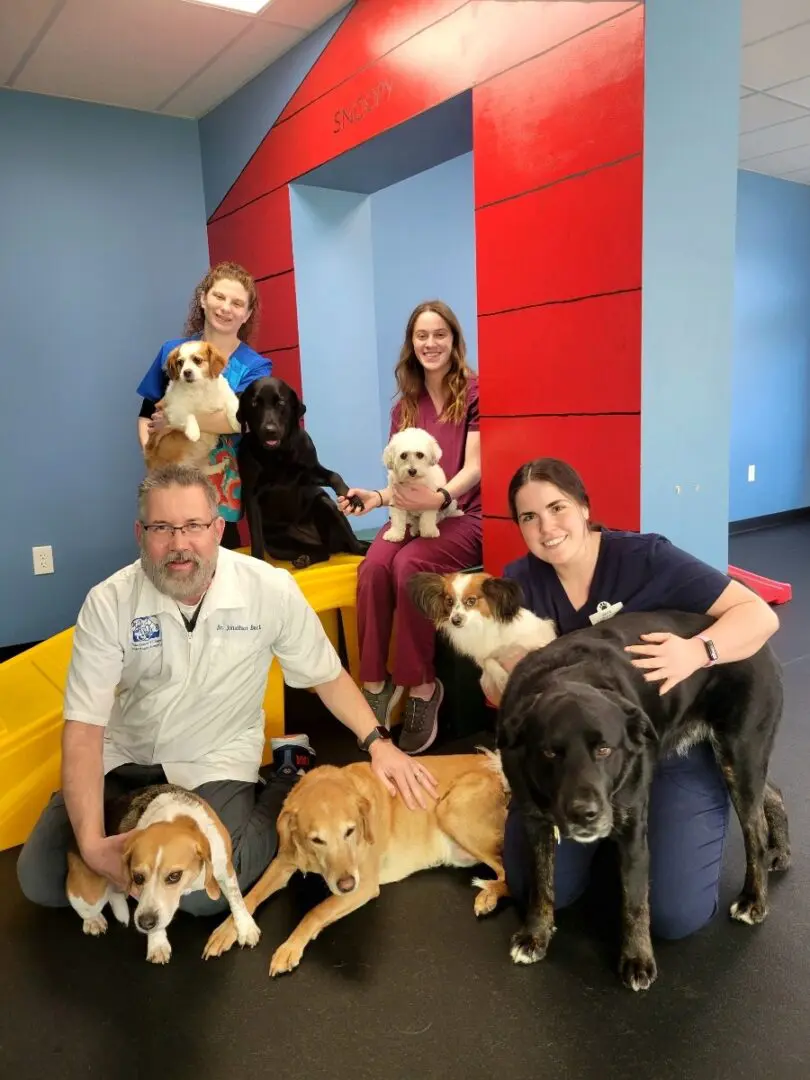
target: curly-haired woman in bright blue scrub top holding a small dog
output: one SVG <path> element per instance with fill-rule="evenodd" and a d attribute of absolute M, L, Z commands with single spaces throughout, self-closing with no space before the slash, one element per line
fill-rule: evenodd
<path fill-rule="evenodd" d="M 270 375 L 270 360 L 247 345 L 258 310 L 256 283 L 243 267 L 235 262 L 220 262 L 208 270 L 194 289 L 185 335 L 161 346 L 138 386 L 137 392 L 144 399 L 138 416 L 141 449 L 151 432 L 165 427 L 163 410 L 157 407 L 168 382 L 164 365 L 170 352 L 184 341 L 210 341 L 229 357 L 222 374 L 235 394 L 241 394 L 254 379 Z M 237 446 L 241 436 L 231 431 L 225 413 L 198 417 L 198 421 L 202 431 L 219 435 L 208 458 L 208 474 L 219 495 L 219 514 L 226 521 L 222 545 L 238 548 L 237 522 L 242 511 L 242 489 Z"/>

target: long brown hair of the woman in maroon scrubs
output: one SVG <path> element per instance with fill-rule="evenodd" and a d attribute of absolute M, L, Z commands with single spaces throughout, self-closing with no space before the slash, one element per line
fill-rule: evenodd
<path fill-rule="evenodd" d="M 424 368 L 414 351 L 414 326 L 419 315 L 426 311 L 432 311 L 433 314 L 443 319 L 453 334 L 450 367 L 442 383 L 447 404 L 442 410 L 440 420 L 450 423 L 461 422 L 467 407 L 467 387 L 470 376 L 474 374 L 467 366 L 467 342 L 455 312 L 443 300 L 426 300 L 423 303 L 417 305 L 405 327 L 405 340 L 402 343 L 400 360 L 394 369 L 400 395 L 400 431 L 416 424 L 419 413 L 419 396 L 424 390 Z"/>

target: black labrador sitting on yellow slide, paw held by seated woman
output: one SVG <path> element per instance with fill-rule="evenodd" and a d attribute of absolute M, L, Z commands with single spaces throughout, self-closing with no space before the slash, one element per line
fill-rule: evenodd
<path fill-rule="evenodd" d="M 306 405 L 288 383 L 272 376 L 256 379 L 239 403 L 242 424 L 238 460 L 242 504 L 251 531 L 251 554 L 286 559 L 297 568 L 330 555 L 364 555 L 359 540 L 324 491 L 347 496 L 341 476 L 318 460 L 314 444 L 300 427 Z M 355 496 L 354 504 L 362 501 Z"/>

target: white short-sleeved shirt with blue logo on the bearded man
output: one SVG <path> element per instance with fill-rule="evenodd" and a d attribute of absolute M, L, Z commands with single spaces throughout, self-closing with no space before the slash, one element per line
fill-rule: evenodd
<path fill-rule="evenodd" d="M 337 678 L 340 659 L 286 570 L 220 548 L 193 633 L 133 563 L 93 588 L 76 624 L 65 718 L 106 727 L 105 773 L 162 765 L 170 783 L 255 782 L 273 657 L 284 680 Z"/>

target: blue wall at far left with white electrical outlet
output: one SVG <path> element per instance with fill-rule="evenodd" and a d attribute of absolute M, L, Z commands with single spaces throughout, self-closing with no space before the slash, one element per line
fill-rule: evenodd
<path fill-rule="evenodd" d="M 0 92 L 0 646 L 137 555 L 135 388 L 207 267 L 197 124 Z M 35 577 L 51 544 L 55 573 Z"/>

